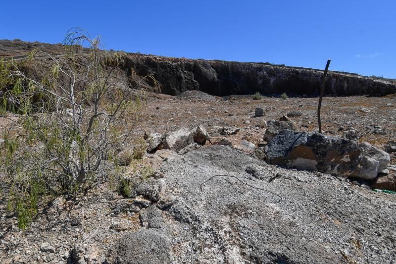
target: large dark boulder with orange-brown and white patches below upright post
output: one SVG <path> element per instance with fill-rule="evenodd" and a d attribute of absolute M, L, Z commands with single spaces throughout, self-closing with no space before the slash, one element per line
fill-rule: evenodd
<path fill-rule="evenodd" d="M 368 143 L 292 130 L 279 132 L 265 152 L 270 164 L 360 179 L 375 178 L 390 162 L 386 152 Z"/>

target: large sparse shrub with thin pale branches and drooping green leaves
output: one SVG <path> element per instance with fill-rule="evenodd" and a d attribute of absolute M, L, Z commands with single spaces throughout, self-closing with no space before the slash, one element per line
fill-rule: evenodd
<path fill-rule="evenodd" d="M 100 38 L 69 31 L 64 56 L 34 49 L 23 61 L 0 60 L 0 110 L 22 131 L 5 131 L 2 168 L 11 185 L 9 209 L 25 228 L 37 212 L 39 196 L 75 196 L 99 178 L 116 146 L 125 144 L 142 107 L 139 87 L 149 75 L 120 85 L 118 73 L 125 53 L 101 51 Z M 82 47 L 91 54 L 77 55 Z M 27 69 L 36 55 L 48 58 L 42 80 Z M 78 63 L 84 61 L 85 63 Z M 18 113 L 18 119 L 10 118 Z"/>

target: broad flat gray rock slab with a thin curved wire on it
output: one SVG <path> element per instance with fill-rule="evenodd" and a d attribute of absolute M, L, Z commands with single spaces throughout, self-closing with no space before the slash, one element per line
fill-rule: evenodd
<path fill-rule="evenodd" d="M 167 194 L 178 195 L 160 229 L 177 249 L 176 263 L 394 261 L 391 195 L 219 145 L 169 158 L 161 169 Z"/>

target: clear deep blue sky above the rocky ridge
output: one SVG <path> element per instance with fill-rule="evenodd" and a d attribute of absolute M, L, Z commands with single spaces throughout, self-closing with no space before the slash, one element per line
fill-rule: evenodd
<path fill-rule="evenodd" d="M 396 78 L 396 0 L 1 0 L 0 39 L 259 61 Z"/>

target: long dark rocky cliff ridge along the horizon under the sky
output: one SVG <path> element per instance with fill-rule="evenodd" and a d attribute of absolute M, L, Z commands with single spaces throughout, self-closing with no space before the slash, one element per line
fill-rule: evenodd
<path fill-rule="evenodd" d="M 33 48 L 55 54 L 64 52 L 60 44 L 1 40 L 0 56 L 22 58 Z M 87 49 L 81 50 L 83 54 L 87 52 Z M 168 95 L 200 90 L 217 96 L 256 92 L 313 96 L 317 95 L 322 76 L 322 71 L 318 69 L 269 63 L 171 58 L 136 53 L 127 53 L 124 60 L 124 80 L 130 77 L 131 67 L 141 76 L 153 73 L 161 86 L 161 92 Z M 338 96 L 384 96 L 396 93 L 396 81 L 330 71 L 325 93 Z"/>

